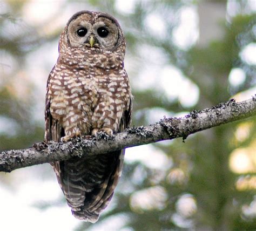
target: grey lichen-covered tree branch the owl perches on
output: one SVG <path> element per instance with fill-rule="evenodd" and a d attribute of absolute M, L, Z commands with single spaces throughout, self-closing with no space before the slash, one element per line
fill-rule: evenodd
<path fill-rule="evenodd" d="M 109 153 L 122 148 L 150 144 L 161 140 L 182 137 L 207 128 L 256 115 L 256 97 L 239 103 L 230 100 L 203 111 L 192 111 L 181 118 L 164 118 L 147 127 L 132 127 L 124 132 L 106 135 L 99 133 L 97 139 L 76 138 L 69 142 L 44 142 L 34 144 L 25 150 L 0 152 L 0 171 L 43 164 L 51 161 L 68 160 L 71 157 Z"/>

